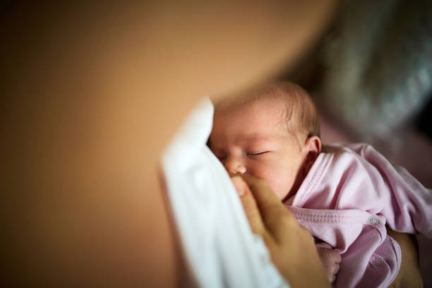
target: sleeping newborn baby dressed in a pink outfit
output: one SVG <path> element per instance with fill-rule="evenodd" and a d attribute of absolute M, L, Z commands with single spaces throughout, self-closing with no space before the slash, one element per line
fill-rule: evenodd
<path fill-rule="evenodd" d="M 395 279 L 400 247 L 385 224 L 432 236 L 431 191 L 369 145 L 322 149 L 316 108 L 298 85 L 270 83 L 218 105 L 209 146 L 227 172 L 268 181 L 323 241 L 318 252 L 330 281 L 337 273 L 335 287 L 388 287 Z"/>

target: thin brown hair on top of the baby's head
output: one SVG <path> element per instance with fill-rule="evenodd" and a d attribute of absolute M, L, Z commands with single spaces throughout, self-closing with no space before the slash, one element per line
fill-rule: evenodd
<path fill-rule="evenodd" d="M 241 93 L 240 97 L 228 103 L 221 103 L 217 108 L 239 107 L 255 101 L 282 102 L 282 124 L 294 136 L 303 142 L 311 136 L 320 136 L 320 121 L 315 104 L 303 88 L 291 82 L 271 82 L 258 88 Z M 225 105 L 227 104 L 227 106 Z"/>

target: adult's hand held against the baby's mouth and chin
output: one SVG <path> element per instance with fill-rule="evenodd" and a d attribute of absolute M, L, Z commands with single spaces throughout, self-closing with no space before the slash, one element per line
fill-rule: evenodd
<path fill-rule="evenodd" d="M 246 174 L 233 176 L 232 181 L 253 233 L 263 238 L 287 282 L 292 287 L 330 287 L 313 237 L 297 224 L 267 181 Z"/>

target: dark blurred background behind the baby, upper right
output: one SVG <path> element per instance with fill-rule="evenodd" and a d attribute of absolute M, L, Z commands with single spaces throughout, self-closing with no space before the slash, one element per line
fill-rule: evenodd
<path fill-rule="evenodd" d="M 311 93 L 323 143 L 371 143 L 432 187 L 432 1 L 340 2 L 323 36 L 280 78 Z M 419 245 L 432 287 L 432 245 L 423 237 Z"/>

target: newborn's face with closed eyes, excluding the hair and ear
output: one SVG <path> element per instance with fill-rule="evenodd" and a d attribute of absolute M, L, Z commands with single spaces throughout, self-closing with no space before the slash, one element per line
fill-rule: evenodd
<path fill-rule="evenodd" d="M 267 180 L 282 200 L 295 193 L 305 152 L 282 124 L 281 109 L 276 103 L 253 102 L 217 110 L 210 149 L 227 172 Z"/>

